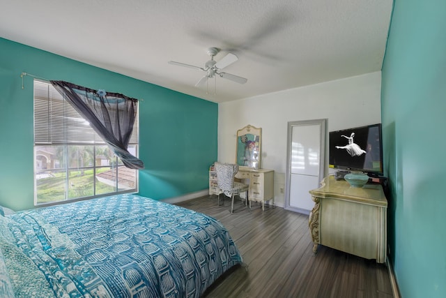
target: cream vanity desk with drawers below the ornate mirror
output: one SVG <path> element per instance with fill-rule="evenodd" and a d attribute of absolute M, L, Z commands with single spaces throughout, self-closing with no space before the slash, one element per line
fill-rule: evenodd
<path fill-rule="evenodd" d="M 249 179 L 249 208 L 252 201 L 261 202 L 263 211 L 265 201 L 272 201 L 271 205 L 274 205 L 274 170 L 239 167 L 236 178 L 243 179 L 245 183 Z"/>

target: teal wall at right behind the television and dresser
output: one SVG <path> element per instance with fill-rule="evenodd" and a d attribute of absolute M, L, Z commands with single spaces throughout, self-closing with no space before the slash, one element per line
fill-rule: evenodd
<path fill-rule="evenodd" d="M 446 1 L 396 0 L 382 69 L 388 243 L 401 296 L 446 296 Z"/>

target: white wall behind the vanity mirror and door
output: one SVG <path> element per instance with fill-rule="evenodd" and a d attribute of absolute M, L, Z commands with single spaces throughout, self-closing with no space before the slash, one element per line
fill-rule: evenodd
<path fill-rule="evenodd" d="M 261 167 L 275 170 L 275 204 L 284 207 L 288 122 L 328 119 L 327 131 L 380 123 L 380 92 L 378 71 L 220 103 L 218 161 L 236 161 L 238 129 L 247 124 L 262 128 Z"/>

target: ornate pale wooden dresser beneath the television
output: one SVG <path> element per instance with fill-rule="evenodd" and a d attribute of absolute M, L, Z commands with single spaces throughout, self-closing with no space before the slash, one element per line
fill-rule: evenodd
<path fill-rule="evenodd" d="M 344 180 L 326 177 L 309 191 L 314 208 L 309 230 L 318 244 L 383 263 L 387 247 L 387 200 L 380 184 L 354 188 Z"/>

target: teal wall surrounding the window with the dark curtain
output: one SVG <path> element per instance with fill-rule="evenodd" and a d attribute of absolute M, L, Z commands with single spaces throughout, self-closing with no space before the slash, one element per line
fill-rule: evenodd
<path fill-rule="evenodd" d="M 166 61 L 167 64 L 167 61 Z M 118 92 L 139 104 L 139 194 L 157 200 L 208 188 L 218 105 L 0 38 L 0 204 L 33 208 L 33 77 Z"/>

